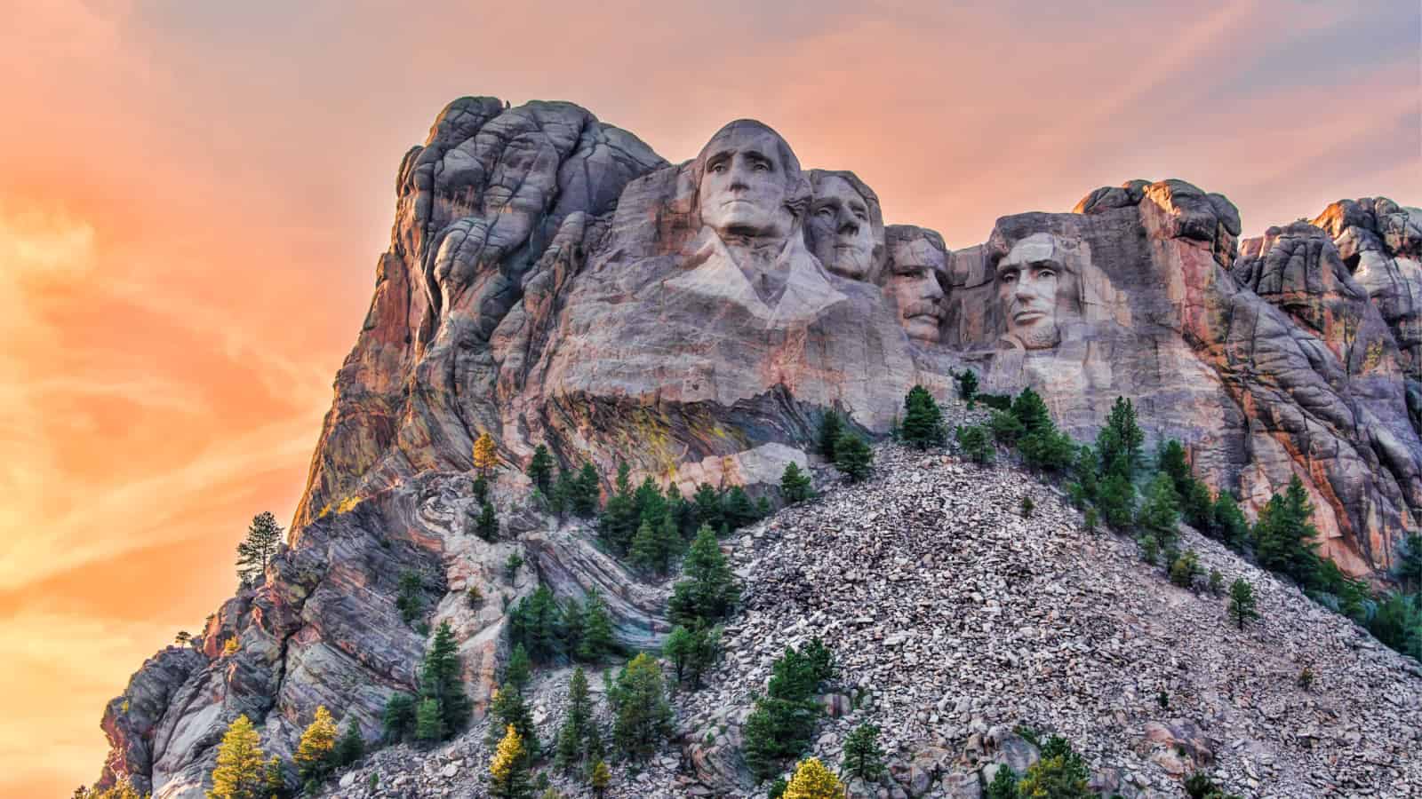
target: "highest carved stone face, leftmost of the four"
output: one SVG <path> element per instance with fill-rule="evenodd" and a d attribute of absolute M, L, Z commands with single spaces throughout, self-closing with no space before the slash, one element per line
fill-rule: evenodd
<path fill-rule="evenodd" d="M 786 163 L 789 146 L 775 131 L 754 122 L 721 128 L 701 149 L 697 205 L 701 223 L 722 239 L 785 237 L 795 218 L 786 193 L 799 165 Z"/>

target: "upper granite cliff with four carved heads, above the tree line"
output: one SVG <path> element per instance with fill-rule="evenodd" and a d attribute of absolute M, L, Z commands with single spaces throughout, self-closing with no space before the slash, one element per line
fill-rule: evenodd
<path fill-rule="evenodd" d="M 1422 508 L 1418 225 L 1345 202 L 1240 254 L 1227 199 L 1133 181 L 950 252 L 761 122 L 671 165 L 576 105 L 464 98 L 401 165 L 297 526 L 468 468 L 481 431 L 513 463 L 546 444 L 604 475 L 769 482 L 828 409 L 886 434 L 909 387 L 946 398 L 974 368 L 1079 438 L 1130 397 L 1247 505 L 1300 475 L 1362 574 Z"/>

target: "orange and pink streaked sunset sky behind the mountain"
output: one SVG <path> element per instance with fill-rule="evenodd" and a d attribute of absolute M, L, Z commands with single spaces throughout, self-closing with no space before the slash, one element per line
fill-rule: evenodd
<path fill-rule="evenodd" d="M 1413 0 L 16 6 L 4 796 L 92 781 L 104 702 L 232 591 L 255 513 L 290 518 L 395 166 L 454 97 L 573 100 L 671 161 L 757 117 L 953 246 L 1132 178 L 1223 192 L 1247 235 L 1345 196 L 1422 203 Z"/>

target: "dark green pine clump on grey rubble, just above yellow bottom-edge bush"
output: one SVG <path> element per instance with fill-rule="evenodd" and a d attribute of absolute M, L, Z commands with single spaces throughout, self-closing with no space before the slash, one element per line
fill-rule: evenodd
<path fill-rule="evenodd" d="M 819 638 L 801 650 L 786 647 L 771 665 L 765 695 L 755 699 L 741 731 L 747 766 L 758 779 L 774 776 L 809 748 L 822 712 L 813 695 L 833 674 L 833 653 Z"/>

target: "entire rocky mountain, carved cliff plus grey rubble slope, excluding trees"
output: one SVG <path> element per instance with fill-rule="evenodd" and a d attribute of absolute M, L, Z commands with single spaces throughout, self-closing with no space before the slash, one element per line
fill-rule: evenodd
<path fill-rule="evenodd" d="M 1128 181 L 1069 212 L 948 232 L 985 233 L 950 250 L 940 232 L 886 225 L 853 172 L 802 166 L 761 122 L 728 122 L 668 163 L 577 105 L 492 97 L 449 104 L 395 193 L 289 542 L 109 702 L 97 785 L 203 796 L 243 715 L 289 765 L 317 707 L 374 749 L 390 698 L 421 685 L 428 630 L 448 624 L 468 732 L 381 748 L 327 790 L 485 795 L 512 608 L 539 587 L 560 603 L 596 591 L 627 653 L 673 628 L 670 579 L 535 495 L 539 448 L 553 471 L 589 465 L 584 488 L 607 498 L 621 471 L 685 498 L 779 499 L 791 463 L 820 488 L 840 479 L 816 445 L 832 412 L 883 441 L 919 385 L 953 422 L 983 421 L 956 398 L 971 371 L 987 392 L 1032 388 L 1081 441 L 1130 400 L 1148 446 L 1179 441 L 1251 519 L 1300 486 L 1342 574 L 1388 584 L 1418 527 L 1416 208 L 1340 200 L 1241 240 L 1224 196 Z M 889 752 L 887 776 L 852 781 L 856 796 L 977 796 L 1052 734 L 1105 796 L 1179 795 L 1196 771 L 1258 796 L 1422 783 L 1416 661 L 1297 587 L 1186 529 L 1206 572 L 1256 587 L 1263 618 L 1231 628 L 1221 597 L 1089 532 L 1051 482 L 943 446 L 876 459 L 867 482 L 722 540 L 745 586 L 725 655 L 705 688 L 675 694 L 667 746 L 636 771 L 614 763 L 609 795 L 764 792 L 741 755 L 751 694 L 815 636 L 839 672 L 813 752 L 838 765 L 866 721 Z M 471 535 L 481 515 L 498 535 Z M 1304 667 L 1313 687 L 1295 684 Z M 536 671 L 545 741 L 566 690 L 562 663 Z"/>

